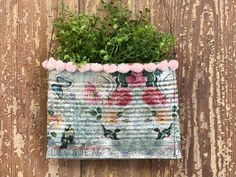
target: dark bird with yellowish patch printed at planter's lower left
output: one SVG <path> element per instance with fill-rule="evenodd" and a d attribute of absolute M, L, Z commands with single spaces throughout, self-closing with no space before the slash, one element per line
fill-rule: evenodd
<path fill-rule="evenodd" d="M 60 149 L 66 149 L 69 144 L 74 144 L 74 136 L 75 131 L 71 127 L 71 125 L 68 125 L 68 127 L 65 128 L 65 131 L 61 138 L 62 145 L 60 146 Z"/>

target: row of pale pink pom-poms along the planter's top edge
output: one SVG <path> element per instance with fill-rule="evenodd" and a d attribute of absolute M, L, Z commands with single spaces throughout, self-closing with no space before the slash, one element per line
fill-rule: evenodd
<path fill-rule="evenodd" d="M 53 57 L 49 58 L 42 62 L 42 66 L 48 71 L 57 70 L 68 71 L 68 72 L 76 72 L 79 71 L 81 73 L 92 71 L 92 72 L 105 72 L 105 73 L 128 73 L 132 72 L 154 72 L 157 69 L 161 71 L 172 70 L 175 71 L 179 67 L 179 63 L 177 60 L 163 60 L 161 62 L 156 63 L 121 63 L 121 64 L 100 64 L 100 63 L 87 63 L 82 66 L 78 66 L 72 62 L 63 62 L 61 60 L 55 60 Z"/>

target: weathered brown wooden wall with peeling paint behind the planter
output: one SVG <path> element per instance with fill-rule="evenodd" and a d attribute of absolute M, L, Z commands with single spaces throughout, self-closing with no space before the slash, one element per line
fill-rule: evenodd
<path fill-rule="evenodd" d="M 236 1 L 123 0 L 177 37 L 182 160 L 46 160 L 40 63 L 58 0 L 0 0 L 0 177 L 236 176 Z M 60 3 L 60 2 L 59 2 Z M 99 0 L 67 0 L 95 12 Z"/>

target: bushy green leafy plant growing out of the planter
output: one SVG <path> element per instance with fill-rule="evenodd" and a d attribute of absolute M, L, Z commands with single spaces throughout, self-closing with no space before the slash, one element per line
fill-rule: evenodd
<path fill-rule="evenodd" d="M 175 38 L 157 31 L 148 9 L 132 16 L 120 1 L 101 2 L 100 16 L 63 10 L 54 23 L 58 59 L 118 64 L 159 62 L 168 57 Z"/>

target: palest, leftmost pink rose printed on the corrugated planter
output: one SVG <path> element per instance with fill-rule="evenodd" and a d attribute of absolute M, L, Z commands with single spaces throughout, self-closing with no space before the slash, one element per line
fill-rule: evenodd
<path fill-rule="evenodd" d="M 95 104 L 101 100 L 101 96 L 99 95 L 96 86 L 91 83 L 85 85 L 84 95 L 85 95 L 85 100 L 87 100 L 89 103 L 92 104 Z"/>

